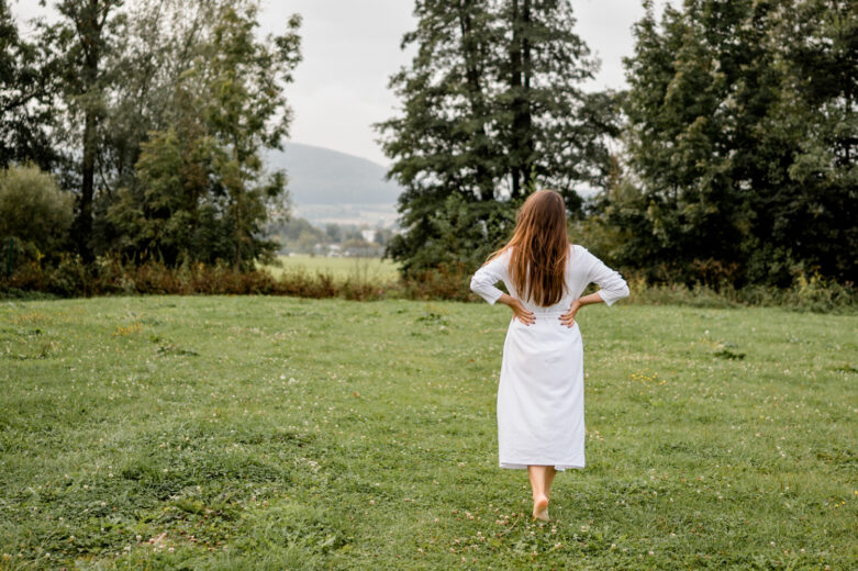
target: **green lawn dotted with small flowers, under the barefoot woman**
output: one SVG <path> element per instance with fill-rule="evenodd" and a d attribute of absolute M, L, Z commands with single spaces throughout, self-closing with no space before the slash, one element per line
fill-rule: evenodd
<path fill-rule="evenodd" d="M 535 525 L 505 307 L 3 302 L 0 568 L 856 568 L 858 317 L 579 317 L 588 467 Z"/>

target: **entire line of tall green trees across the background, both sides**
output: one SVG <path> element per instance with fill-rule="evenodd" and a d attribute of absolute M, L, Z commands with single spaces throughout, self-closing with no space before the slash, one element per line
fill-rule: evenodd
<path fill-rule="evenodd" d="M 650 281 L 855 281 L 854 2 L 643 3 L 628 87 L 592 92 L 570 0 L 414 1 L 401 110 L 376 125 L 405 277 L 472 270 L 553 188 L 576 242 Z M 288 134 L 300 16 L 263 38 L 255 0 L 55 10 L 23 36 L 0 0 L 0 238 L 48 261 L 270 257 L 289 212 L 263 154 Z"/>

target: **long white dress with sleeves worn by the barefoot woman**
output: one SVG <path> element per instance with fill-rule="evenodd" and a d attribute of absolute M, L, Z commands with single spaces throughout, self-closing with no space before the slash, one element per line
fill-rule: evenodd
<path fill-rule="evenodd" d="M 481 267 L 471 278 L 470 289 L 494 304 L 503 293 L 494 284 L 502 281 L 510 295 L 521 300 L 508 271 L 509 261 L 506 250 Z M 599 294 L 608 305 L 628 295 L 628 286 L 620 273 L 583 246 L 570 245 L 564 298 L 548 307 L 522 300 L 534 313 L 535 323 L 510 322 L 498 387 L 501 468 L 584 467 L 581 332 L 578 322 L 570 328 L 561 325 L 559 317 L 592 282 L 599 284 Z"/>

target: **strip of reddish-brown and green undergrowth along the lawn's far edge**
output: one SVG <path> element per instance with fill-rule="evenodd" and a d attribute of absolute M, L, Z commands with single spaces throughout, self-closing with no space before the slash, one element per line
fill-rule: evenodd
<path fill-rule="evenodd" d="M 858 311 L 858 289 L 818 275 L 799 275 L 790 288 L 764 286 L 718 289 L 684 283 L 649 282 L 640 272 L 624 272 L 631 290 L 628 303 L 729 307 L 777 305 L 792 311 L 854 313 Z M 99 258 L 86 266 L 77 256 L 65 256 L 56 267 L 31 261 L 18 268 L 10 279 L 0 279 L 0 298 L 103 295 L 116 293 L 156 294 L 265 294 L 300 298 L 343 298 L 379 300 L 482 300 L 470 292 L 470 272 L 464 265 L 443 265 L 406 280 L 386 280 L 355 273 L 336 279 L 327 272 L 303 269 L 275 279 L 266 271 L 237 272 L 232 266 L 203 264 L 170 268 L 159 262 L 125 266 L 115 258 Z"/>

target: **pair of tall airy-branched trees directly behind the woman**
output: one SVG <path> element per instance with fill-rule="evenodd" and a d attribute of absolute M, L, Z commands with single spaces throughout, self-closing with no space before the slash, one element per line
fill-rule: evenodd
<path fill-rule="evenodd" d="M 491 239 L 480 253 L 499 247 L 533 188 L 554 188 L 578 213 L 576 186 L 603 183 L 605 137 L 616 133 L 613 97 L 579 88 L 597 66 L 572 32 L 567 0 L 419 1 L 415 15 L 402 45 L 416 55 L 390 79 L 403 113 L 377 125 L 393 160 L 389 177 L 405 189 L 405 233 L 388 248 L 405 273 L 471 262 L 480 233 Z M 447 227 L 454 212 L 471 227 Z M 463 239 L 450 234 L 459 229 Z"/>

